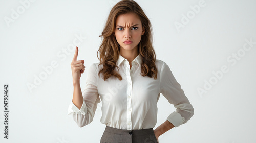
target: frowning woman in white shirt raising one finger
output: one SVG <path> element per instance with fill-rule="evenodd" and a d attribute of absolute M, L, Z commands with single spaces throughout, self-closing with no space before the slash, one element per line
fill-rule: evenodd
<path fill-rule="evenodd" d="M 100 142 L 158 142 L 160 135 L 193 116 L 194 108 L 172 71 L 156 59 L 151 22 L 135 1 L 123 0 L 112 8 L 100 37 L 100 62 L 89 67 L 83 93 L 80 77 L 85 67 L 84 60 L 77 61 L 77 47 L 71 63 L 69 115 L 79 127 L 93 121 L 100 101 L 100 121 L 106 125 Z M 160 93 L 177 109 L 153 130 Z"/>

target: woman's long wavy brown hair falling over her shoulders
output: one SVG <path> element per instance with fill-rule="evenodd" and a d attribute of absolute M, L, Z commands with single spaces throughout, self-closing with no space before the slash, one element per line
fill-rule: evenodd
<path fill-rule="evenodd" d="M 142 27 L 145 28 L 145 33 L 141 37 L 141 41 L 138 44 L 138 53 L 142 58 L 141 63 L 141 75 L 152 77 L 157 79 L 157 68 L 155 65 L 156 53 L 152 45 L 152 26 L 150 20 L 147 18 L 141 7 L 133 0 L 122 0 L 119 1 L 110 11 L 109 17 L 105 23 L 103 32 L 99 37 L 103 38 L 103 41 L 97 51 L 100 52 L 100 64 L 103 64 L 103 68 L 99 71 L 98 75 L 102 72 L 104 75 L 104 81 L 111 76 L 117 77 L 122 80 L 119 73 L 115 72 L 114 69 L 119 67 L 116 65 L 119 58 L 120 45 L 118 44 L 114 30 L 116 27 L 116 19 L 121 14 L 134 13 L 141 20 Z M 155 74 L 155 75 L 154 75 Z"/>

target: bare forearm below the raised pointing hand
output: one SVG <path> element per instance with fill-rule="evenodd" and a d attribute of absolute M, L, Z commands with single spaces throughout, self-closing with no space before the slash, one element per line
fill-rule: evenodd
<path fill-rule="evenodd" d="M 74 92 L 72 102 L 76 105 L 77 108 L 81 109 L 83 103 L 82 91 L 80 87 L 80 81 L 74 81 Z"/>

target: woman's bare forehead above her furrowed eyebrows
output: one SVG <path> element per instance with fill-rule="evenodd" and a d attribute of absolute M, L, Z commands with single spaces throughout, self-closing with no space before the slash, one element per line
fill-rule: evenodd
<path fill-rule="evenodd" d="M 134 13 L 121 14 L 116 19 L 116 25 L 141 24 L 139 17 Z"/>

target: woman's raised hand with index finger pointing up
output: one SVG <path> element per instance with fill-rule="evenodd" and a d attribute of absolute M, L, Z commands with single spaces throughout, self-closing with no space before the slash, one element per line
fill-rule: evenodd
<path fill-rule="evenodd" d="M 84 72 L 86 66 L 84 66 L 84 60 L 77 61 L 78 47 L 76 47 L 74 58 L 71 62 L 73 84 L 74 82 L 79 82 L 81 74 Z"/>

